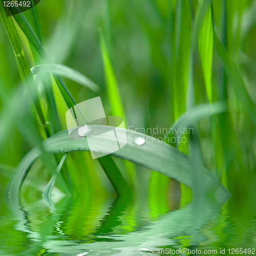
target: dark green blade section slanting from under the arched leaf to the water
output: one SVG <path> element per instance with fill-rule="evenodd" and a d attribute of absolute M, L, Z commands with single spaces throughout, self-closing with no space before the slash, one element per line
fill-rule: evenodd
<path fill-rule="evenodd" d="M 132 190 L 123 178 L 118 166 L 110 155 L 98 158 L 102 168 L 119 196 L 131 196 Z"/>

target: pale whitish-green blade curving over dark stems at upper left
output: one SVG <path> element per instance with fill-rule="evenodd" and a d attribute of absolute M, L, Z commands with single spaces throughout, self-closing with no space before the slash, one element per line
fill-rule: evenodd
<path fill-rule="evenodd" d="M 59 74 L 60 76 L 69 78 L 70 80 L 80 83 L 82 86 L 87 87 L 96 93 L 100 90 L 99 86 L 97 86 L 97 84 L 91 79 L 79 73 L 78 71 L 61 64 L 38 65 L 31 68 L 31 72 L 32 75 L 36 75 L 40 72 L 51 72 L 53 74 Z"/>

